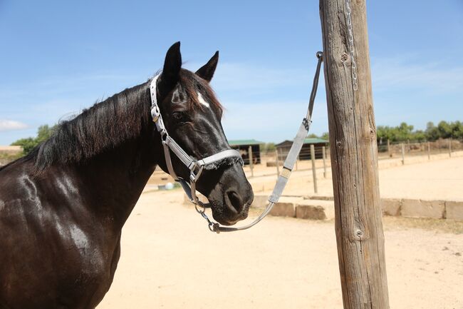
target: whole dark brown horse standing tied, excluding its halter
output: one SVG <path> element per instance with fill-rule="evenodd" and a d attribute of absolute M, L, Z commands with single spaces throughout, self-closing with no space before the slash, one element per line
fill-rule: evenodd
<path fill-rule="evenodd" d="M 179 42 L 167 51 L 157 83 L 165 126 L 193 158 L 229 149 L 222 107 L 209 87 L 217 61 L 216 53 L 196 73 L 181 69 Z M 0 169 L 1 309 L 87 309 L 103 299 L 123 225 L 155 167 L 167 171 L 149 85 L 61 123 L 31 154 Z M 175 156 L 172 164 L 188 178 Z M 197 189 L 219 223 L 246 218 L 253 193 L 240 164 L 204 171 Z"/>

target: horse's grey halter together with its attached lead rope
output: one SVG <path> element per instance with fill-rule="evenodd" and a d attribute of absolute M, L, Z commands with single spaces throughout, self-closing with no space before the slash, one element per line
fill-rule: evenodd
<path fill-rule="evenodd" d="M 308 102 L 308 109 L 307 109 L 307 114 L 303 118 L 301 126 L 299 126 L 298 133 L 296 133 L 296 137 L 293 140 L 293 145 L 291 146 L 291 149 L 288 152 L 288 156 L 286 156 L 286 159 L 283 163 L 283 168 L 281 169 L 281 173 L 278 176 L 278 179 L 276 180 L 276 184 L 274 187 L 274 191 L 271 193 L 271 196 L 269 196 L 269 205 L 265 208 L 264 212 L 261 213 L 259 217 L 257 217 L 254 221 L 252 221 L 249 224 L 246 224 L 245 226 L 240 226 L 238 228 L 234 227 L 228 227 L 228 226 L 220 226 L 219 223 L 215 223 L 207 217 L 205 211 L 206 208 L 209 207 L 208 204 L 204 204 L 196 196 L 196 181 L 201 176 L 202 170 L 204 168 L 208 168 L 208 166 L 212 166 L 212 168 L 217 168 L 217 164 L 214 165 L 214 163 L 218 163 L 219 161 L 224 161 L 226 158 L 230 157 L 235 157 L 239 160 L 241 165 L 243 165 L 243 159 L 241 158 L 241 155 L 239 154 L 238 151 L 233 150 L 233 149 L 227 149 L 224 151 L 221 151 L 219 153 L 216 153 L 212 156 L 208 156 L 207 158 L 203 158 L 202 160 L 195 160 L 191 156 L 188 156 L 186 152 L 180 147 L 175 141 L 169 136 L 169 134 L 166 131 L 166 128 L 164 126 L 164 121 L 162 121 L 162 116 L 160 113 L 159 106 L 157 106 L 157 78 L 159 78 L 159 75 L 157 75 L 155 78 L 152 79 L 151 81 L 151 86 L 150 86 L 150 91 L 151 91 L 151 116 L 152 116 L 152 121 L 156 123 L 157 131 L 160 132 L 161 134 L 161 141 L 162 145 L 164 146 L 164 153 L 165 153 L 165 161 L 167 164 L 167 169 L 169 170 L 170 176 L 175 179 L 175 181 L 180 182 L 182 185 L 182 188 L 184 189 L 185 193 L 187 193 L 187 196 L 189 198 L 189 201 L 194 203 L 194 207 L 196 208 L 196 211 L 201 214 L 201 216 L 207 221 L 209 224 L 209 230 L 220 233 L 220 232 L 233 232 L 233 231 L 242 231 L 242 230 L 247 230 L 248 228 L 251 228 L 252 226 L 255 226 L 259 221 L 265 218 L 267 216 L 271 209 L 274 207 L 275 203 L 278 203 L 279 198 L 281 194 L 283 193 L 283 189 L 286 186 L 286 183 L 288 183 L 289 176 L 291 176 L 291 171 L 293 171 L 294 164 L 296 163 L 296 160 L 298 158 L 299 153 L 301 152 L 303 142 L 307 137 L 308 134 L 308 129 L 311 126 L 312 123 L 312 111 L 313 111 L 313 103 L 315 101 L 315 96 L 317 93 L 317 88 L 318 88 L 318 77 L 320 76 L 320 69 L 321 69 L 321 63 L 323 61 L 323 53 L 321 51 L 318 51 L 316 54 L 316 57 L 318 58 L 318 64 L 316 67 L 315 71 L 315 76 L 313 77 L 313 84 L 312 84 L 312 91 L 311 91 L 311 96 Z M 174 168 L 172 167 L 172 161 L 170 160 L 170 151 L 172 151 L 175 156 L 177 156 L 182 163 L 189 168 L 190 175 L 189 175 L 189 183 L 187 181 L 184 181 L 184 179 L 177 177 L 177 174 L 175 174 Z M 234 161 L 231 161 L 232 163 Z M 199 209 L 198 206 L 202 209 Z"/>

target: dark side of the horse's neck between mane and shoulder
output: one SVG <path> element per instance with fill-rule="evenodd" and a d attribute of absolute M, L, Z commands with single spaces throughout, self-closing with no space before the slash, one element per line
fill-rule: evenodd
<path fill-rule="evenodd" d="M 88 193 L 88 206 L 122 228 L 155 170 L 160 150 L 160 143 L 140 136 L 79 166 L 77 173 Z"/>

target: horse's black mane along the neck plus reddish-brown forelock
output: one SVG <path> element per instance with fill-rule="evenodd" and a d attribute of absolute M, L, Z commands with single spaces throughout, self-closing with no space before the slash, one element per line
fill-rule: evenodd
<path fill-rule="evenodd" d="M 52 136 L 28 155 L 35 161 L 36 170 L 43 171 L 53 163 L 80 163 L 138 136 L 151 121 L 150 82 L 127 88 L 84 109 L 76 118 L 60 123 Z M 209 83 L 191 71 L 181 70 L 180 86 L 191 98 L 189 109 L 202 107 L 197 101 L 197 91 L 212 105 L 222 108 Z"/>

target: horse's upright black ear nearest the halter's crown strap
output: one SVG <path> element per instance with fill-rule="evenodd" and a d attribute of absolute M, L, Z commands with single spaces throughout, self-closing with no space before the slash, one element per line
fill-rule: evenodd
<path fill-rule="evenodd" d="M 167 93 L 175 87 L 179 81 L 182 68 L 182 54 L 180 54 L 180 42 L 170 46 L 165 55 L 164 68 L 160 80 L 160 92 Z"/>

